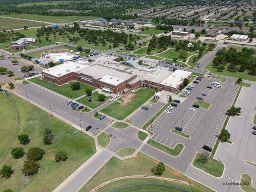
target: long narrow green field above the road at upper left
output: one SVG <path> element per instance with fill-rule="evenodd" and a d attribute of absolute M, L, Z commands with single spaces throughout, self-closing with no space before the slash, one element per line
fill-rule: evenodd
<path fill-rule="evenodd" d="M 36 15 L 36 14 L 9 14 L 3 15 L 6 17 L 13 17 L 19 19 L 28 19 L 28 20 L 36 20 L 36 21 L 45 21 L 45 22 L 52 22 L 52 23 L 70 23 L 74 21 L 85 21 L 85 20 L 92 20 L 97 19 L 97 17 L 92 16 L 48 16 L 48 15 Z"/>

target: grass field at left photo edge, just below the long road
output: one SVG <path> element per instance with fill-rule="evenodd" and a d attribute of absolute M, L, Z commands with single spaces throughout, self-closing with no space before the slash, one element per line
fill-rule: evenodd
<path fill-rule="evenodd" d="M 21 21 L 17 19 L 7 19 L 1 18 L 0 19 L 0 29 L 1 30 L 8 30 L 8 29 L 21 29 L 23 26 L 27 27 L 36 27 L 42 26 L 40 23 L 31 22 L 31 21 Z"/>

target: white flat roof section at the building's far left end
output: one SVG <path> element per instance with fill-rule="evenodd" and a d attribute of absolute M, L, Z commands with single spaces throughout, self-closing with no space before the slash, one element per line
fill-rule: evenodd
<path fill-rule="evenodd" d="M 42 72 L 48 73 L 49 75 L 52 75 L 55 77 L 61 77 L 71 72 L 79 72 L 87 67 L 89 67 L 89 65 L 82 65 L 76 62 L 67 61 L 55 67 L 51 67 L 49 69 L 43 70 Z"/>

